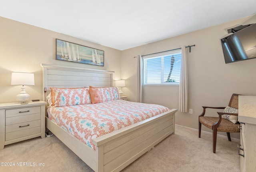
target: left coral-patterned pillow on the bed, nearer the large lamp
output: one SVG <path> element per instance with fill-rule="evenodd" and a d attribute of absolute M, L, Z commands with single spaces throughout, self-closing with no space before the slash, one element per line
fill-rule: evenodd
<path fill-rule="evenodd" d="M 90 104 L 89 88 L 51 88 L 51 106 L 71 106 L 78 104 Z"/>

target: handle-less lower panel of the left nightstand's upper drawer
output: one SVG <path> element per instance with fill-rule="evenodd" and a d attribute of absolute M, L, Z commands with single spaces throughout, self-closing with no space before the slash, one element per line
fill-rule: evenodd
<path fill-rule="evenodd" d="M 22 122 L 28 122 L 28 121 L 35 121 L 40 120 L 41 114 L 29 114 L 29 115 L 20 115 L 20 116 L 13 116 L 9 118 L 5 118 L 5 125 L 12 125 L 12 124 L 19 124 Z"/>

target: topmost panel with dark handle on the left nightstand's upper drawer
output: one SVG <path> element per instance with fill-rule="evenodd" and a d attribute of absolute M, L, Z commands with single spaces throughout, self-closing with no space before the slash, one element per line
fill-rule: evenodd
<path fill-rule="evenodd" d="M 36 113 L 41 113 L 40 106 L 6 110 L 5 117 L 8 118 L 12 116 L 21 116 L 21 115 L 36 114 Z"/>

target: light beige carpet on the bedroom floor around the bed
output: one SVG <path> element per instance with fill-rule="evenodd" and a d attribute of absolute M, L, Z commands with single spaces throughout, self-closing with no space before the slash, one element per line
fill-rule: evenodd
<path fill-rule="evenodd" d="M 198 138 L 198 130 L 176 125 L 175 134 L 122 172 L 240 172 L 237 144 L 218 135 L 214 154 L 211 133 L 202 132 Z M 0 162 L 15 163 L 15 166 L 0 166 L 1 172 L 93 172 L 55 136 L 6 145 L 0 150 Z M 16 166 L 17 162 L 30 162 L 31 166 Z M 38 163 L 44 163 L 44 166 L 38 166 Z"/>

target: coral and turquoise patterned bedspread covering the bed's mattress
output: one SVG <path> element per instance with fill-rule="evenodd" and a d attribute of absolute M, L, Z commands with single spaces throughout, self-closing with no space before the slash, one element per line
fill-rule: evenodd
<path fill-rule="evenodd" d="M 50 120 L 93 148 L 92 139 L 156 116 L 170 109 L 156 104 L 112 100 L 47 109 Z"/>

